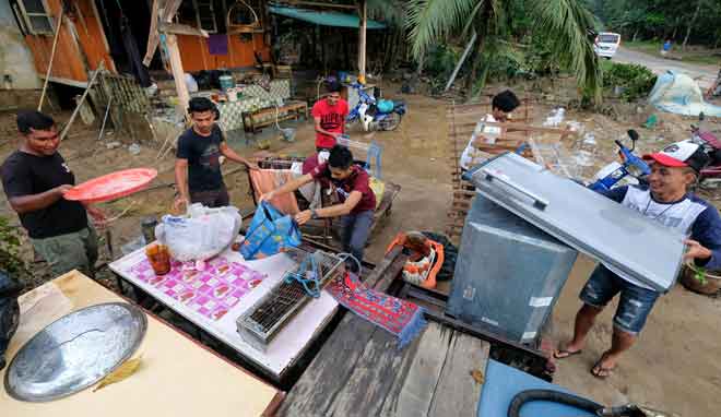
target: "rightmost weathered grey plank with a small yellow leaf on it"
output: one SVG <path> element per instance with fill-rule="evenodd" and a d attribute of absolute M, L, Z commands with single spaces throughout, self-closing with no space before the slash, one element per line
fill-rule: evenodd
<path fill-rule="evenodd" d="M 488 362 L 490 344 L 454 332 L 448 348 L 446 365 L 440 373 L 429 417 L 475 416 L 481 401 L 483 378 Z"/>

